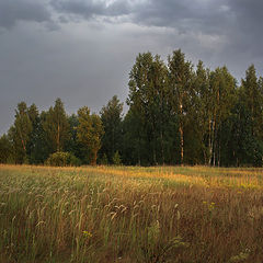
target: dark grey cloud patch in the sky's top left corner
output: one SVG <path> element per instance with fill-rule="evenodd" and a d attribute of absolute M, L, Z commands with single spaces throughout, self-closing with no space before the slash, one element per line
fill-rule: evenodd
<path fill-rule="evenodd" d="M 43 2 L 0 0 L 0 27 L 10 28 L 18 21 L 46 22 L 50 21 L 50 13 Z"/>

